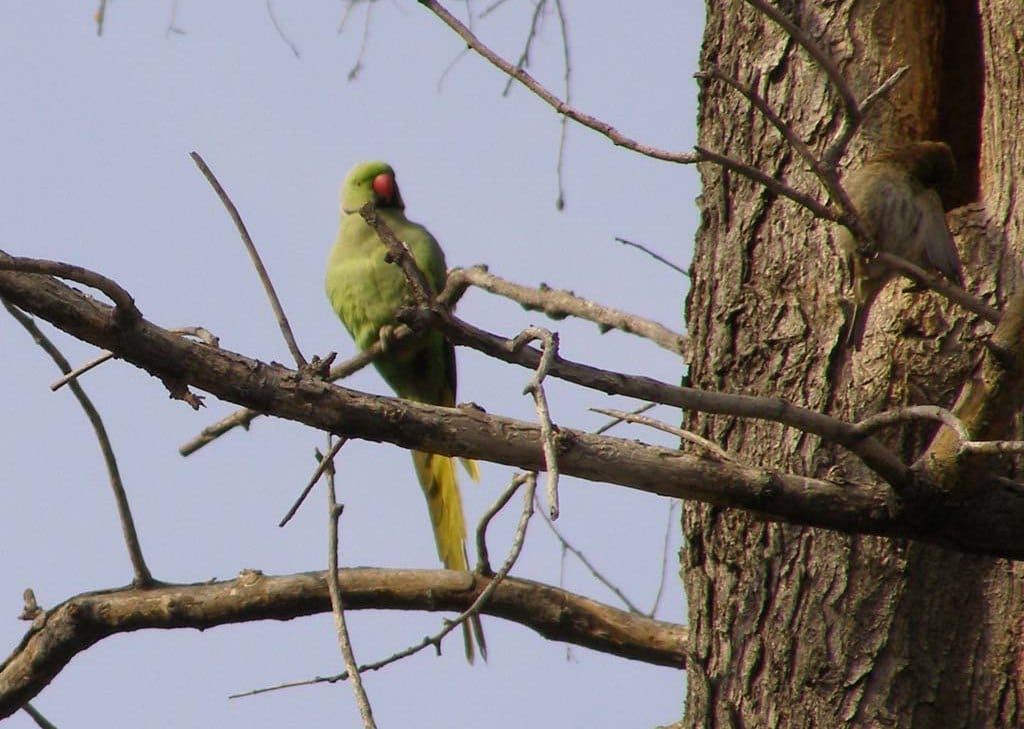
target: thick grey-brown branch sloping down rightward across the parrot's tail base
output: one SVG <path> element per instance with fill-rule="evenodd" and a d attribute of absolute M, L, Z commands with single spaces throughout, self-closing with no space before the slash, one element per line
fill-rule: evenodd
<path fill-rule="evenodd" d="M 189 341 L 145 319 L 124 332 L 116 326 L 110 306 L 46 276 L 0 272 L 0 296 L 73 336 L 115 351 L 165 382 L 184 383 L 221 399 L 338 435 L 530 471 L 544 467 L 540 429 L 530 423 L 471 409 L 360 394 L 278 364 Z M 529 347 L 520 350 L 525 352 L 540 356 Z M 551 372 L 558 366 L 557 360 L 552 362 Z M 616 384 L 611 375 L 603 376 Z M 714 401 L 709 393 L 686 394 Z M 793 408 L 777 404 L 781 412 Z M 808 411 L 805 415 L 815 414 Z M 838 433 L 841 426 L 853 427 L 816 417 L 829 421 Z M 1016 485 L 981 489 L 970 504 L 942 502 L 932 499 L 935 484 L 906 472 L 901 501 L 881 485 L 839 484 L 741 464 L 709 462 L 700 456 L 567 428 L 558 434 L 558 447 L 562 472 L 592 481 L 746 509 L 766 519 L 908 537 L 964 551 L 1024 558 L 1024 531 L 1019 528 L 1024 522 L 1024 489 Z M 926 503 L 927 510 L 918 508 Z M 905 508 L 907 504 L 915 508 Z"/>

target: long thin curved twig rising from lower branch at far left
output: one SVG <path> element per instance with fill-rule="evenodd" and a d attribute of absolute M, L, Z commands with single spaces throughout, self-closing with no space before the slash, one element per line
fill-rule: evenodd
<path fill-rule="evenodd" d="M 25 328 L 36 344 L 50 356 L 61 372 L 71 372 L 71 364 L 68 359 L 60 353 L 56 345 L 43 334 L 42 330 L 36 326 L 35 320 L 31 316 L 7 301 L 3 301 L 3 305 L 10 315 Z M 96 434 L 99 451 L 103 456 L 103 463 L 106 465 L 106 475 L 111 483 L 111 490 L 114 492 L 114 503 L 117 506 L 118 517 L 121 521 L 121 533 L 124 537 L 125 547 L 128 549 L 128 557 L 131 560 L 134 584 L 136 587 L 152 585 L 154 582 L 153 573 L 150 571 L 148 566 L 146 566 L 145 558 L 142 556 L 142 546 L 139 543 L 138 531 L 135 529 L 135 520 L 132 518 L 131 507 L 128 504 L 128 494 L 125 491 L 124 483 L 121 481 L 121 471 L 118 469 L 114 446 L 111 444 L 103 421 L 99 417 L 99 411 L 96 410 L 96 406 L 89 399 L 89 396 L 85 394 L 85 390 L 82 389 L 82 386 L 78 382 L 73 380 L 69 383 L 69 387 L 75 394 L 79 405 L 85 412 L 85 417 L 89 419 L 89 424 Z"/>

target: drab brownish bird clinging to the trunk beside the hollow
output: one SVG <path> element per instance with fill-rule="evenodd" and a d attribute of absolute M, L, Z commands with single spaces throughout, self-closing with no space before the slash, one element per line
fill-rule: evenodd
<path fill-rule="evenodd" d="M 936 191 L 952 180 L 955 171 L 947 144 L 916 141 L 868 160 L 847 175 L 843 185 L 879 251 L 935 269 L 963 286 L 956 246 Z M 847 343 L 860 349 L 868 309 L 896 271 L 859 255 L 856 241 L 845 227 L 840 230 L 839 244 L 853 269 L 856 305 Z"/>

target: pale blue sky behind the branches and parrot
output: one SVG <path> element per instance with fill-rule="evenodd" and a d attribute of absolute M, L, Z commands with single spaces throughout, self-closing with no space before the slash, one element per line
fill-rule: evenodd
<path fill-rule="evenodd" d="M 527 285 L 545 282 L 682 327 L 685 280 L 613 241 L 641 241 L 686 265 L 696 227 L 695 170 L 640 158 L 570 127 L 566 209 L 555 210 L 556 115 L 467 55 L 432 14 L 412 2 L 373 5 L 364 70 L 346 80 L 366 8 L 341 36 L 341 2 L 276 3 L 301 50 L 296 59 L 263 3 L 179 0 L 184 35 L 167 35 L 170 2 L 112 2 L 97 38 L 94 2 L 22 0 L 0 26 L 0 248 L 101 271 L 166 327 L 202 325 L 225 348 L 289 362 L 263 293 L 230 220 L 188 159 L 200 152 L 224 184 L 259 247 L 307 355 L 353 346 L 322 286 L 337 226 L 337 189 L 348 167 L 382 158 L 397 170 L 410 217 L 443 245 L 450 265 L 487 263 Z M 299 9 L 301 5 L 301 9 Z M 465 13 L 464 3 L 451 3 Z M 485 3 L 474 3 L 477 10 Z M 686 149 L 694 141 L 695 70 L 703 9 L 695 0 L 631 5 L 565 2 L 573 102 L 642 141 Z M 515 57 L 532 6 L 510 1 L 477 22 L 481 37 Z M 530 71 L 561 85 L 556 18 L 546 18 Z M 680 361 L 623 334 L 551 321 L 479 291 L 460 305 L 468 320 L 513 336 L 529 324 L 561 334 L 565 356 L 678 382 Z M 0 318 L 8 430 L 0 458 L 0 650 L 27 628 L 14 619 L 22 591 L 44 607 L 84 590 L 127 583 L 103 465 L 71 394 L 50 393 L 55 371 L 9 318 Z M 94 350 L 55 333 L 75 362 Z M 529 373 L 460 349 L 460 399 L 534 420 L 521 389 Z M 259 421 L 189 459 L 177 446 L 232 406 L 208 399 L 194 413 L 130 366 L 111 362 L 83 378 L 105 418 L 158 578 L 227 578 L 326 566 L 326 515 L 317 490 L 285 529 L 276 522 L 313 468 L 321 434 Z M 386 392 L 373 371 L 347 386 Z M 625 400 L 553 383 L 556 422 L 593 428 L 591 406 Z M 677 422 L 678 413 L 655 411 Z M 614 432 L 614 431 L 613 431 Z M 617 434 L 671 444 L 638 428 Z M 354 442 L 340 461 L 342 561 L 433 567 L 429 522 L 407 454 Z M 475 518 L 510 469 L 484 465 L 463 484 Z M 666 500 L 565 479 L 560 527 L 641 605 L 657 585 Z M 492 529 L 504 555 L 517 514 Z M 684 620 L 675 577 L 659 616 Z M 497 558 L 496 558 L 497 559 Z M 676 566 L 674 566 L 676 565 Z M 515 573 L 557 583 L 559 550 L 540 520 Z M 614 604 L 569 561 L 566 586 Z M 441 616 L 353 613 L 362 660 L 433 632 Z M 467 667 L 462 647 L 420 655 L 367 680 L 382 727 L 654 726 L 678 718 L 683 674 L 549 643 L 497 618 L 484 620 L 490 660 Z M 458 639 L 457 639 L 458 640 Z M 77 657 L 36 700 L 60 727 L 357 726 L 347 685 L 228 700 L 236 691 L 340 670 L 328 615 L 205 633 L 144 632 L 108 639 Z M 7 723 L 34 726 L 25 714 Z"/>

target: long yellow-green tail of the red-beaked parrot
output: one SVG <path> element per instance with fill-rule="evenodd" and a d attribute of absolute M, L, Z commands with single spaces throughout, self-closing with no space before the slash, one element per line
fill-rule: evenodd
<path fill-rule="evenodd" d="M 480 472 L 475 461 L 462 460 L 470 477 L 476 481 Z M 413 464 L 416 475 L 427 498 L 427 508 L 430 510 L 430 521 L 434 527 L 434 542 L 437 544 L 437 556 L 447 569 L 469 569 L 466 556 L 466 517 L 462 513 L 462 496 L 459 494 L 459 482 L 455 475 L 455 460 L 447 456 L 425 454 L 413 451 Z M 463 637 L 466 640 L 466 659 L 473 662 L 473 638 L 480 647 L 480 655 L 487 659 L 487 644 L 483 640 L 483 627 L 479 615 L 473 615 L 462 624 Z"/>

